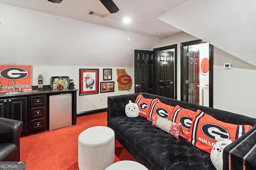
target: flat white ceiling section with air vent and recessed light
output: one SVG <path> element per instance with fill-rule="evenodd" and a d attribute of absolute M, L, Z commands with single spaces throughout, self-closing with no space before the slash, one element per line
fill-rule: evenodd
<path fill-rule="evenodd" d="M 48 0 L 0 0 L 2 4 L 157 38 L 182 32 L 172 25 L 158 20 L 156 17 L 183 2 L 186 2 L 186 0 L 114 0 L 120 11 L 110 14 L 100 0 L 62 0 L 60 4 L 52 3 Z M 88 15 L 89 10 L 108 16 L 100 18 Z M 131 23 L 123 23 L 122 20 L 124 18 L 130 18 Z M 162 36 L 158 36 L 158 33 L 162 33 Z"/>

